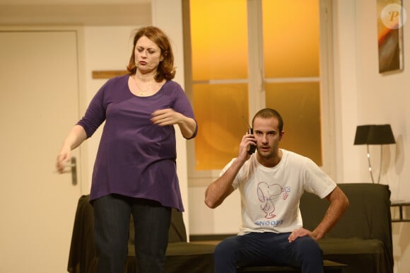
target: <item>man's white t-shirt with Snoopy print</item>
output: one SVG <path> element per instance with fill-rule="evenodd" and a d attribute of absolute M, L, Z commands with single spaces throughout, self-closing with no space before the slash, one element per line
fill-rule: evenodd
<path fill-rule="evenodd" d="M 266 168 L 256 153 L 239 170 L 233 187 L 239 189 L 242 226 L 239 235 L 250 232 L 286 233 L 303 226 L 299 200 L 304 191 L 326 197 L 336 183 L 310 158 L 281 149 L 279 164 Z M 232 165 L 233 158 L 221 175 Z"/>

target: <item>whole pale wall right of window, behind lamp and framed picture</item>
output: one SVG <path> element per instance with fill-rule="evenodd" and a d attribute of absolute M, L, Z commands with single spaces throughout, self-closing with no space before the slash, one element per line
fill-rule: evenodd
<path fill-rule="evenodd" d="M 392 191 L 391 199 L 410 200 L 410 156 L 407 136 L 410 130 L 410 32 L 404 25 L 404 71 L 381 75 L 377 57 L 377 8 L 375 0 L 334 1 L 336 11 L 336 91 L 339 97 L 339 127 L 342 153 L 340 177 L 344 182 L 371 182 L 365 146 L 353 146 L 358 124 L 392 125 L 397 144 L 383 149 L 380 182 Z M 410 1 L 403 1 L 407 14 Z M 374 174 L 379 171 L 379 147 L 370 146 Z M 397 211 L 393 211 L 397 216 Z M 409 215 L 409 213 L 407 213 Z M 392 223 L 394 272 L 410 269 L 410 223 Z"/>

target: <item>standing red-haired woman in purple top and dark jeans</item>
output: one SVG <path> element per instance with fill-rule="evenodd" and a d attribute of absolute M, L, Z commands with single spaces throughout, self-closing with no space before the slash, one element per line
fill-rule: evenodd
<path fill-rule="evenodd" d="M 131 214 L 139 272 L 163 272 L 171 208 L 184 210 L 174 125 L 186 139 L 196 136 L 198 129 L 187 96 L 172 81 L 173 62 L 162 30 L 139 29 L 129 74 L 112 78 L 100 88 L 57 157 L 62 173 L 71 150 L 105 121 L 90 192 L 98 273 L 124 272 Z"/>

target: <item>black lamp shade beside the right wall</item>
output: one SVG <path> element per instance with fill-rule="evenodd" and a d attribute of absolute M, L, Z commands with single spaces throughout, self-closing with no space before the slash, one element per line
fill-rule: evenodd
<path fill-rule="evenodd" d="M 390 124 L 359 125 L 356 128 L 354 145 L 361 144 L 394 144 L 394 135 Z"/>

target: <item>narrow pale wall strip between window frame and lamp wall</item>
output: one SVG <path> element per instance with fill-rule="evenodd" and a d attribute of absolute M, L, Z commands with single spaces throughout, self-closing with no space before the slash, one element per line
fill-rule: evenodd
<path fill-rule="evenodd" d="M 334 1 L 335 3 L 337 1 Z M 359 181 L 361 155 L 353 147 L 357 120 L 357 66 L 355 1 L 334 4 L 334 90 L 336 100 L 336 155 L 338 181 Z M 375 41 L 376 42 L 376 41 Z M 342 114 L 343 113 L 343 114 Z M 346 149 L 350 153 L 345 156 Z M 350 163 L 350 164 L 349 164 Z"/>

